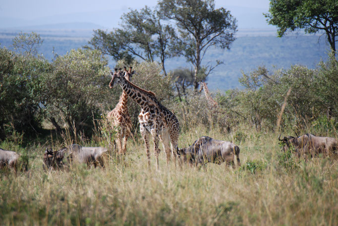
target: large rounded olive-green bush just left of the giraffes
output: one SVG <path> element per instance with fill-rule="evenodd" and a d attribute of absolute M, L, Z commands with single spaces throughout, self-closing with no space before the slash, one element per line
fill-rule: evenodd
<path fill-rule="evenodd" d="M 91 133 L 108 95 L 107 60 L 97 50 L 77 49 L 57 56 L 52 66 L 41 100 L 46 116 L 66 122 L 72 134 Z"/>

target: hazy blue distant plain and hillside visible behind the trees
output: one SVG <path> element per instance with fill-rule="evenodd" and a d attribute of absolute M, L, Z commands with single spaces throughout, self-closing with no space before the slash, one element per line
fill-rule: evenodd
<path fill-rule="evenodd" d="M 78 24 L 82 29 L 68 29 L 74 26 L 56 24 L 40 27 L 37 31 L 44 43 L 39 49 L 47 59 L 52 60 L 55 53 L 63 55 L 72 48 L 87 45 L 93 31 L 88 29 L 90 24 Z M 82 26 L 82 27 L 81 27 Z M 62 29 L 57 29 L 61 27 Z M 95 28 L 96 29 L 96 28 Z M 34 30 L 34 29 L 33 29 Z M 28 31 L 26 31 L 28 32 Z M 0 46 L 9 47 L 12 39 L 19 34 L 15 30 L 0 30 Z M 204 57 L 203 64 L 215 63 L 216 59 L 223 60 L 224 64 L 218 66 L 208 77 L 210 90 L 228 90 L 241 88 L 238 78 L 241 71 L 249 73 L 258 66 L 265 65 L 269 70 L 274 68 L 289 68 L 292 64 L 301 64 L 309 68 L 315 68 L 321 59 L 327 57 L 329 50 L 325 36 L 286 36 L 277 38 L 274 30 L 255 29 L 241 30 L 237 39 L 231 44 L 230 50 L 211 48 Z M 110 59 L 110 66 L 114 66 Z M 177 67 L 191 68 L 184 58 L 171 58 L 166 61 L 167 71 Z"/>

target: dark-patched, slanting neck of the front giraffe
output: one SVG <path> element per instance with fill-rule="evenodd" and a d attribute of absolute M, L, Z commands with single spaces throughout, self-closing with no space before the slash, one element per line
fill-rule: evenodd
<path fill-rule="evenodd" d="M 150 104 L 154 105 L 154 99 L 151 98 L 151 94 L 147 93 L 145 90 L 142 90 L 136 86 L 132 86 L 130 82 L 122 80 L 123 91 L 130 96 L 142 109 L 145 109 Z"/>

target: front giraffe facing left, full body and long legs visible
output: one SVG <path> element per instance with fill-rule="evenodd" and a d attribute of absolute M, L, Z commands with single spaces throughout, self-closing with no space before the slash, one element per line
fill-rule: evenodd
<path fill-rule="evenodd" d="M 163 148 L 166 151 L 167 165 L 170 161 L 170 154 L 172 152 L 174 157 L 174 164 L 176 166 L 177 140 L 179 136 L 179 123 L 176 116 L 163 106 L 156 98 L 152 91 L 143 90 L 140 87 L 132 84 L 120 73 L 110 72 L 112 81 L 109 87 L 112 89 L 116 84 L 120 87 L 141 107 L 141 112 L 138 116 L 140 122 L 140 132 L 144 139 L 148 169 L 150 170 L 150 151 L 149 151 L 149 134 L 154 140 L 154 154 L 156 158 L 156 169 L 159 170 L 159 139 L 163 143 Z M 169 147 L 171 143 L 171 151 Z"/>

